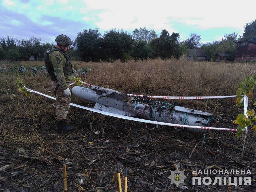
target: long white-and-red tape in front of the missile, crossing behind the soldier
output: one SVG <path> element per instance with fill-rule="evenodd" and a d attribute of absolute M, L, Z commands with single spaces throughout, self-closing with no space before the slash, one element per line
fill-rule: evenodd
<path fill-rule="evenodd" d="M 43 95 L 43 96 L 48 97 L 50 99 L 56 100 L 54 97 L 51 97 L 49 95 L 40 93 L 38 91 L 33 91 L 31 89 L 28 89 L 28 88 L 27 88 L 27 90 L 30 91 L 30 92 L 37 93 L 39 95 Z M 138 119 L 138 118 L 134 118 L 134 117 L 118 115 L 118 114 L 109 113 L 109 112 L 105 112 L 105 111 L 99 111 L 99 110 L 96 110 L 96 109 L 91 109 L 91 108 L 84 107 L 84 106 L 81 106 L 81 105 L 77 105 L 77 104 L 74 104 L 74 103 L 70 103 L 70 105 L 78 107 L 78 108 L 81 108 L 81 109 L 85 109 L 85 110 L 88 110 L 88 111 L 93 111 L 93 112 L 96 112 L 96 113 L 101 113 L 101 114 L 104 114 L 104 115 L 109 115 L 109 116 L 113 116 L 113 117 L 117 117 L 117 118 L 121 118 L 121 119 L 127 119 L 127 120 L 132 120 L 132 121 L 143 122 L 143 123 L 175 126 L 175 127 L 178 127 L 178 128 L 188 127 L 188 128 L 196 128 L 196 129 L 212 129 L 212 130 L 222 130 L 222 131 L 237 131 L 237 129 L 230 129 L 230 128 L 200 127 L 200 126 L 192 126 L 192 125 L 179 125 L 179 124 L 173 124 L 173 123 L 164 123 L 164 122 L 159 122 L 159 121 L 151 121 L 151 120 L 146 120 L 146 119 Z M 243 131 L 246 131 L 246 130 L 243 130 Z"/>

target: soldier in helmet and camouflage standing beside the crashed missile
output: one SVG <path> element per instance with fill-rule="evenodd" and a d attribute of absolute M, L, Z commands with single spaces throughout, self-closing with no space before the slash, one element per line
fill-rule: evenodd
<path fill-rule="evenodd" d="M 66 35 L 59 35 L 55 39 L 57 45 L 48 48 L 44 53 L 44 62 L 51 78 L 51 88 L 56 98 L 56 113 L 58 131 L 70 131 L 73 126 L 66 126 L 66 116 L 69 110 L 70 95 L 69 84 L 74 73 L 71 57 L 65 52 L 69 50 L 72 41 Z"/>

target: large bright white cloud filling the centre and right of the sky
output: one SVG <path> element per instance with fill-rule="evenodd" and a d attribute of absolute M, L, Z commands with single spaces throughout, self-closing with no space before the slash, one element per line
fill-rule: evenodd
<path fill-rule="evenodd" d="M 205 1 L 94 1 L 86 0 L 87 9 L 104 10 L 100 13 L 101 21 L 97 23 L 100 28 L 109 29 L 112 27 L 134 29 L 147 27 L 154 29 L 170 29 L 176 32 L 170 18 L 176 22 L 187 25 L 195 25 L 200 29 L 214 27 L 236 27 L 243 29 L 243 26 L 250 20 L 255 19 L 254 12 L 240 14 L 236 2 L 216 0 L 208 5 Z M 246 1 L 247 2 L 247 1 Z M 255 1 L 248 4 L 255 7 Z M 85 11 L 84 11 L 85 12 Z M 245 18 L 246 17 L 246 18 Z M 136 18 L 136 19 L 134 19 Z"/>

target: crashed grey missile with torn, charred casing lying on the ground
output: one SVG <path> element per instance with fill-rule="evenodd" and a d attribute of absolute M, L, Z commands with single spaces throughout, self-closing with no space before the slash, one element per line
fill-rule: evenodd
<path fill-rule="evenodd" d="M 148 97 L 128 96 L 112 89 L 92 86 L 75 86 L 72 93 L 77 97 L 96 103 L 94 109 L 125 116 L 139 116 L 152 121 L 194 126 L 209 126 L 214 121 L 212 114 L 152 101 Z M 184 128 L 191 132 L 201 129 Z"/>

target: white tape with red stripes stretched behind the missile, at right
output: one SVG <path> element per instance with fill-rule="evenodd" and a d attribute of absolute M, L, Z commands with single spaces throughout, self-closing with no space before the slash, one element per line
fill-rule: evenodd
<path fill-rule="evenodd" d="M 140 96 L 143 97 L 144 95 L 135 95 L 135 94 L 127 94 L 129 96 Z M 229 96 L 202 96 L 202 97 L 178 97 L 178 96 L 153 96 L 147 95 L 150 98 L 159 98 L 159 99 L 218 99 L 218 98 L 228 98 L 228 97 L 237 97 L 236 95 L 229 95 Z"/>

